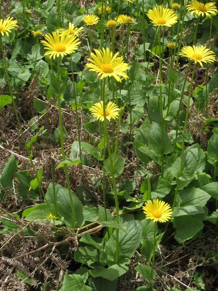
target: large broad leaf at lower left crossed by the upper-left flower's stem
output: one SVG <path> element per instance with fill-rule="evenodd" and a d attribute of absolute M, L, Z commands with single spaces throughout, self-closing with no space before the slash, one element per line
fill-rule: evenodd
<path fill-rule="evenodd" d="M 66 226 L 70 228 L 81 227 L 84 223 L 84 216 L 82 204 L 77 195 L 71 191 L 77 221 L 73 219 L 68 189 L 55 183 L 55 195 L 58 214 L 64 218 L 63 222 Z M 50 207 L 54 208 L 52 183 L 47 188 L 46 198 Z"/>

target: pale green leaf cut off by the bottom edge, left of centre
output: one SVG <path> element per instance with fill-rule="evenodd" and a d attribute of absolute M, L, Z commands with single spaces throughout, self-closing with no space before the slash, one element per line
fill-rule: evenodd
<path fill-rule="evenodd" d="M 93 288 L 84 284 L 80 275 L 65 275 L 59 291 L 92 291 Z"/>

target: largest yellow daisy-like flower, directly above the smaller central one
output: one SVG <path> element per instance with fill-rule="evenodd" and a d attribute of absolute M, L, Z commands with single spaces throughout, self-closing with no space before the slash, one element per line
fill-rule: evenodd
<path fill-rule="evenodd" d="M 128 64 L 124 63 L 123 57 L 117 57 L 119 52 L 114 56 L 112 51 L 107 48 L 102 50 L 94 49 L 95 54 L 91 52 L 92 59 L 87 59 L 92 62 L 92 64 L 86 64 L 90 71 L 98 73 L 98 76 L 101 76 L 101 79 L 109 77 L 114 77 L 117 81 L 121 82 L 119 76 L 122 76 L 124 79 L 129 78 L 124 71 L 127 70 Z"/>

